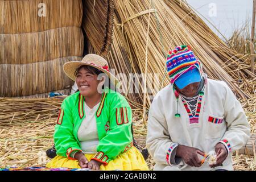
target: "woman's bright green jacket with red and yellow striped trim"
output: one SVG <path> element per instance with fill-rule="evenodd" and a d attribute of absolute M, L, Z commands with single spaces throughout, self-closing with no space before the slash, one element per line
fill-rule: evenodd
<path fill-rule="evenodd" d="M 80 92 L 65 98 L 55 126 L 57 155 L 75 160 L 71 153 L 82 151 L 77 131 L 85 117 L 84 96 Z M 99 144 L 97 154 L 92 159 L 108 164 L 133 145 L 131 107 L 125 97 L 106 88 L 95 117 Z"/>

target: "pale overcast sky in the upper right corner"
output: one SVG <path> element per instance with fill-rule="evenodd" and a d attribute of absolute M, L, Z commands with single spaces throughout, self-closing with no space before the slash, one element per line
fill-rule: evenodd
<path fill-rule="evenodd" d="M 187 0 L 187 2 L 227 38 L 232 35 L 234 29 L 245 24 L 246 20 L 249 19 L 251 24 L 253 0 Z M 205 19 L 204 21 L 218 34 L 210 23 Z"/>

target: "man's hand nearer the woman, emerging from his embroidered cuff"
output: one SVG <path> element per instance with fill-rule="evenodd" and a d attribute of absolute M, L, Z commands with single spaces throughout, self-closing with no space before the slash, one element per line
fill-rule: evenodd
<path fill-rule="evenodd" d="M 198 154 L 204 156 L 204 152 L 198 148 L 179 145 L 177 146 L 176 156 L 184 160 L 186 164 L 192 167 L 200 167 L 202 165 Z"/>

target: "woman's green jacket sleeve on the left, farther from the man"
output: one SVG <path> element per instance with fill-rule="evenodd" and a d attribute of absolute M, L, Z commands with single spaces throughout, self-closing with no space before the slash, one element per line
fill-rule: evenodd
<path fill-rule="evenodd" d="M 54 142 L 57 155 L 73 159 L 71 153 L 74 151 L 82 151 L 79 143 L 73 135 L 73 118 L 71 103 L 64 100 L 61 105 L 59 117 L 55 126 Z"/>

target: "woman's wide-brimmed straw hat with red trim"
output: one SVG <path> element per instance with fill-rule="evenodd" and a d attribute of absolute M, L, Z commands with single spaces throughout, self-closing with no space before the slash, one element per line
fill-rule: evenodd
<path fill-rule="evenodd" d="M 108 61 L 106 61 L 103 57 L 95 54 L 88 54 L 84 56 L 82 61 L 71 61 L 68 63 L 65 63 L 63 65 L 63 69 L 65 74 L 71 78 L 73 81 L 76 80 L 75 72 L 76 69 L 79 68 L 81 65 L 88 65 L 90 67 L 94 67 L 99 69 L 100 71 L 106 73 L 108 77 L 110 78 L 110 81 L 117 86 L 119 81 L 118 79 L 109 71 L 109 64 Z"/>

